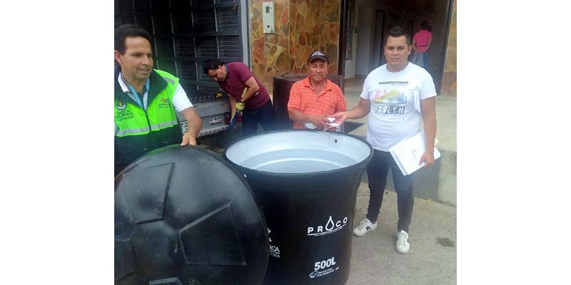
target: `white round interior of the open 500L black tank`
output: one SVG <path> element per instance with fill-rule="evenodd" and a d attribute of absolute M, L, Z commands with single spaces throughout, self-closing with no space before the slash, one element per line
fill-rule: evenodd
<path fill-rule="evenodd" d="M 370 152 L 365 142 L 347 135 L 295 130 L 240 140 L 228 147 L 226 156 L 237 165 L 253 170 L 308 173 L 355 165 Z"/>

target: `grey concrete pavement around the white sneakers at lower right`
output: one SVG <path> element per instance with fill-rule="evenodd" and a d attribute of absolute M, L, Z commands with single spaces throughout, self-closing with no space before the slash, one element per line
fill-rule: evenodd
<path fill-rule="evenodd" d="M 367 214 L 368 199 L 368 183 L 361 182 L 355 225 Z M 408 254 L 395 249 L 397 221 L 396 193 L 385 190 L 378 228 L 353 237 L 346 285 L 456 284 L 456 207 L 415 197 Z"/>

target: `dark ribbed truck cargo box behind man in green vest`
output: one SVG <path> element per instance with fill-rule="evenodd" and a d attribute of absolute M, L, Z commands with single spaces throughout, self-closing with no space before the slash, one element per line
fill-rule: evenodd
<path fill-rule="evenodd" d="M 193 103 L 214 98 L 208 58 L 243 61 L 239 0 L 115 0 L 115 27 L 136 24 L 153 36 L 154 68 L 180 78 Z"/>

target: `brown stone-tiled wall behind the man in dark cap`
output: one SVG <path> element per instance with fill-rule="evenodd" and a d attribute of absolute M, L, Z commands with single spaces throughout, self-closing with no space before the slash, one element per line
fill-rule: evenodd
<path fill-rule="evenodd" d="M 274 76 L 307 72 L 317 49 L 329 57 L 329 73 L 337 73 L 340 0 L 274 1 L 275 33 L 263 33 L 262 2 L 249 4 L 252 70 L 270 93 Z"/>

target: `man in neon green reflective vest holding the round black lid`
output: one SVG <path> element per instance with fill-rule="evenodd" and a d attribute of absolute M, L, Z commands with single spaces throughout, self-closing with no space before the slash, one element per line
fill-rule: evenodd
<path fill-rule="evenodd" d="M 153 69 L 151 34 L 135 25 L 119 26 L 114 58 L 115 175 L 156 148 L 196 145 L 201 118 L 178 78 Z M 184 135 L 175 111 L 188 122 Z"/>

